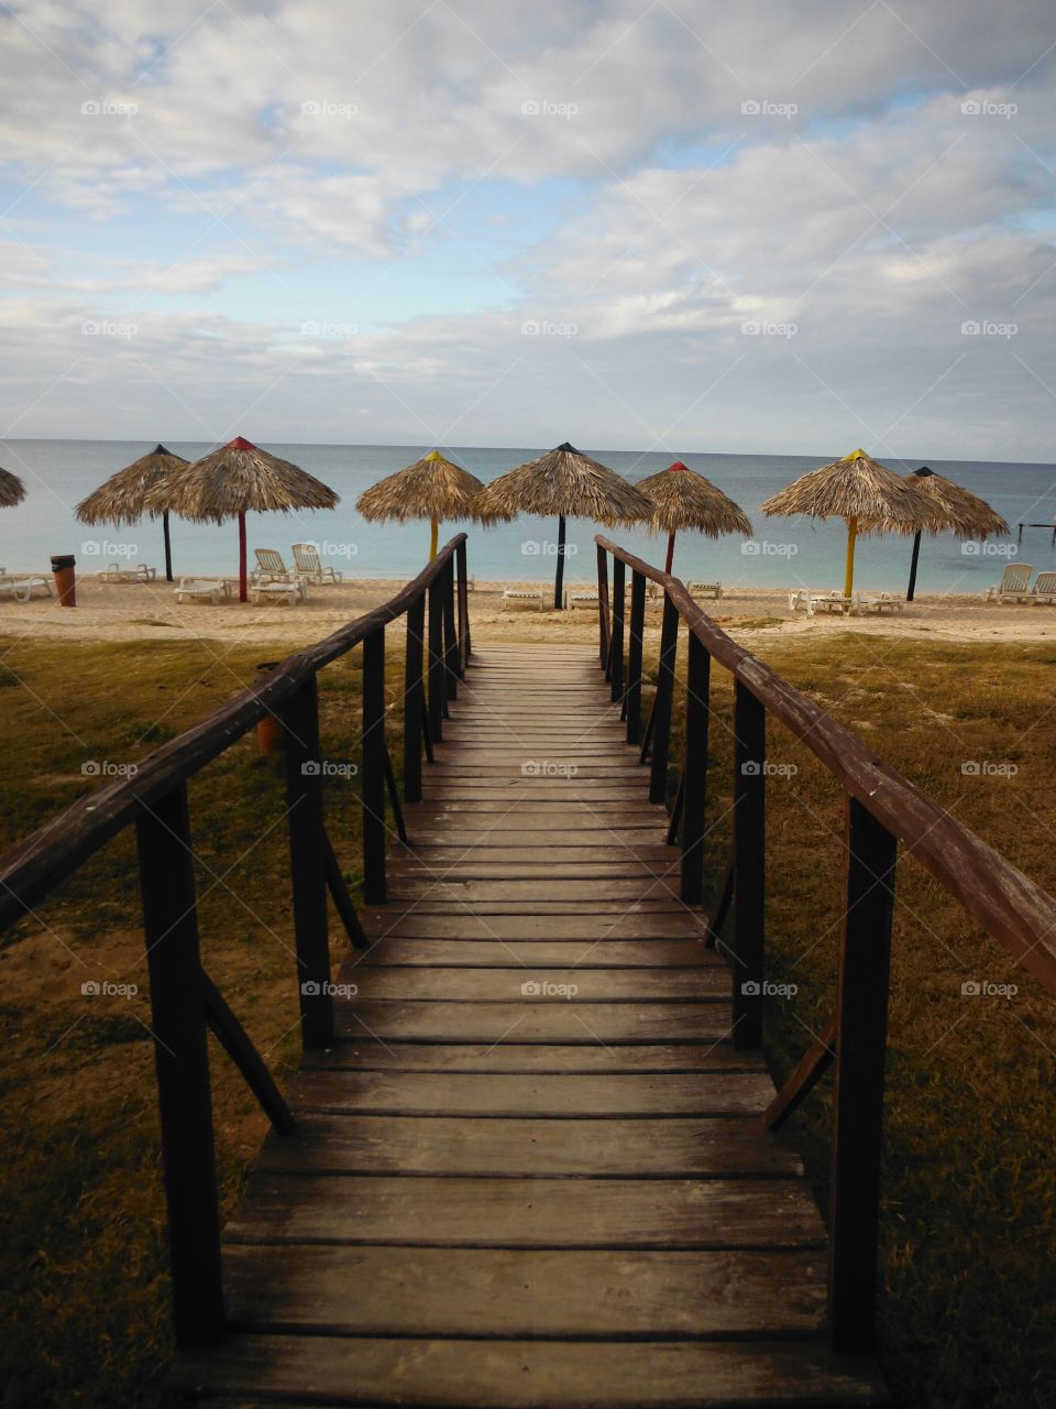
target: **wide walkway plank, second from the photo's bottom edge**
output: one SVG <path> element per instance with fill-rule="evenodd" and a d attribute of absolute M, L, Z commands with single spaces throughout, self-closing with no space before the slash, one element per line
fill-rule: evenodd
<path fill-rule="evenodd" d="M 811 1253 L 235 1246 L 224 1272 L 237 1329 L 313 1334 L 796 1336 L 825 1306 Z"/>

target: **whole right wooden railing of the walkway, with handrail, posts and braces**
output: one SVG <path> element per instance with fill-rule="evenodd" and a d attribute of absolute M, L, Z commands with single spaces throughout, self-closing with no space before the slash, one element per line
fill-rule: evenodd
<path fill-rule="evenodd" d="M 843 921 L 832 1017 L 766 1113 L 773 1129 L 835 1064 L 829 1189 L 829 1327 L 836 1350 L 874 1340 L 879 1171 L 887 1043 L 888 967 L 898 843 L 1005 945 L 1049 993 L 1056 993 L 1056 899 L 866 748 L 812 700 L 732 641 L 677 578 L 598 535 L 600 657 L 612 699 L 624 702 L 628 743 L 641 733 L 645 588 L 663 589 L 656 696 L 641 750 L 652 745 L 649 796 L 665 802 L 679 627 L 687 631 L 684 764 L 669 840 L 680 845 L 680 895 L 704 899 L 710 672 L 734 678 L 732 855 L 710 913 L 714 944 L 734 967 L 731 1031 L 739 1048 L 759 1047 L 766 979 L 766 726 L 777 720 L 832 774 L 845 793 Z M 612 583 L 608 558 L 612 558 Z M 631 569 L 631 613 L 625 575 Z M 624 635 L 628 635 L 627 662 Z"/>

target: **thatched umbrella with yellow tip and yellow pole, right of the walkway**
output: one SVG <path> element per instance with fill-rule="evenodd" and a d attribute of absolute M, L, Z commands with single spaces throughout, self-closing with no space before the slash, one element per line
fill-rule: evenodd
<path fill-rule="evenodd" d="M 843 519 L 848 526 L 848 561 L 843 596 L 855 588 L 855 540 L 863 533 L 904 533 L 945 528 L 934 500 L 907 485 L 894 471 L 863 449 L 852 449 L 831 465 L 801 475 L 762 504 L 765 514 L 810 514 L 811 519 Z"/>

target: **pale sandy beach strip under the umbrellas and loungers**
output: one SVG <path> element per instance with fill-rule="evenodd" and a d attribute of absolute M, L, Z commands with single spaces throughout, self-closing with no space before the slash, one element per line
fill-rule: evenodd
<path fill-rule="evenodd" d="M 77 581 L 77 606 L 61 607 L 55 597 L 25 604 L 0 603 L 0 634 L 65 637 L 86 641 L 172 640 L 176 633 L 215 641 L 275 643 L 283 648 L 308 645 L 393 596 L 394 579 L 311 586 L 308 600 L 293 607 L 269 603 L 224 602 L 220 606 L 177 606 L 166 582 L 104 583 L 89 575 Z M 470 623 L 482 640 L 593 641 L 597 620 L 591 610 L 503 610 L 503 583 L 479 582 L 470 592 Z M 735 588 L 704 609 L 738 640 L 752 640 L 765 654 L 763 640 L 774 635 L 853 631 L 869 635 L 943 641 L 1035 641 L 1056 635 L 1056 610 L 987 602 L 979 593 L 925 593 L 900 614 L 843 617 L 788 609 L 788 593 L 765 588 Z M 646 633 L 659 631 L 658 602 L 646 609 Z M 394 630 L 401 630 L 397 624 Z"/>

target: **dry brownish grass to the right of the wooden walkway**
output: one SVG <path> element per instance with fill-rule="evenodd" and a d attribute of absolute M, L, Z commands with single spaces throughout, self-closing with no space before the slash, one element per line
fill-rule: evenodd
<path fill-rule="evenodd" d="M 914 644 L 850 633 L 767 640 L 766 661 L 957 820 L 1056 890 L 1056 652 Z M 710 869 L 729 847 L 732 692 L 712 672 Z M 681 710 L 681 704 L 679 706 Z M 679 712 L 676 724 L 684 716 Z M 766 1013 L 779 1084 L 832 1009 L 842 797 L 780 724 L 767 782 L 767 965 L 798 985 Z M 969 776 L 964 762 L 1011 764 Z M 903 857 L 897 878 L 883 1157 L 881 1351 L 904 1409 L 1052 1403 L 1056 1340 L 1056 1010 L 960 906 Z M 962 983 L 1015 983 L 972 998 Z M 828 1085 L 793 1137 L 822 1200 Z"/>

